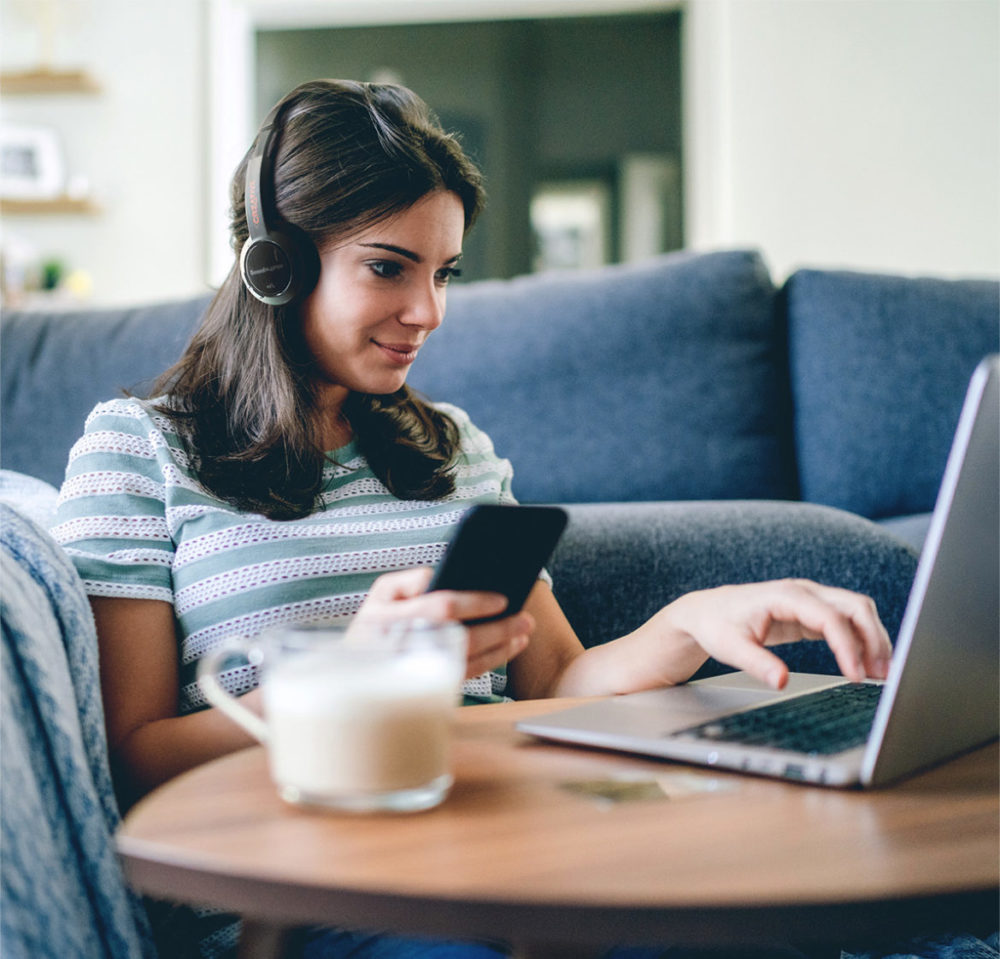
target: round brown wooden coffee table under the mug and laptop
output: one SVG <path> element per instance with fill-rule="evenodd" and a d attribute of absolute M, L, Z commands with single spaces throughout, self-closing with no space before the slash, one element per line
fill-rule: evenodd
<path fill-rule="evenodd" d="M 524 955 L 567 956 L 610 944 L 840 944 L 996 927 L 995 743 L 863 793 L 545 744 L 514 729 L 571 702 L 459 710 L 452 794 L 413 815 L 289 807 L 263 748 L 208 763 L 128 814 L 118 837 L 127 875 L 143 893 L 241 913 L 245 955 L 314 923 L 500 938 Z M 595 798 L 604 787 L 591 784 L 609 780 L 633 798 Z"/>

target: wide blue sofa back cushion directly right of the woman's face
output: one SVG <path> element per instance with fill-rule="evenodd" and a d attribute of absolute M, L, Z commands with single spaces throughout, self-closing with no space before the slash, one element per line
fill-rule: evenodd
<path fill-rule="evenodd" d="M 753 252 L 456 286 L 410 382 L 456 403 L 526 502 L 785 497 L 784 343 Z"/>

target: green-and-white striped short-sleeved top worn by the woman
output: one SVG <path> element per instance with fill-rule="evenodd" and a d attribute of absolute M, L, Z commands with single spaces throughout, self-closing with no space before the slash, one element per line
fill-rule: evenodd
<path fill-rule="evenodd" d="M 91 596 L 171 603 L 180 643 L 180 712 L 206 705 L 198 660 L 234 636 L 353 615 L 380 574 L 433 565 L 474 503 L 513 503 L 511 467 L 460 409 L 455 490 L 397 499 L 354 442 L 329 455 L 322 505 L 303 519 L 240 512 L 195 478 L 155 401 L 97 406 L 70 452 L 53 534 Z M 238 467 L 235 467 L 238 468 Z M 257 684 L 252 666 L 222 674 L 234 695 Z M 502 693 L 503 670 L 466 683 L 466 696 Z"/>

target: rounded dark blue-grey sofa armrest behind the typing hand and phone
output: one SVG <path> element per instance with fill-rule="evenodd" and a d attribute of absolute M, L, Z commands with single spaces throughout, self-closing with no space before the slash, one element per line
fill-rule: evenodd
<path fill-rule="evenodd" d="M 899 631 L 916 552 L 876 523 L 810 503 L 578 504 L 550 564 L 557 599 L 585 646 L 635 629 L 684 593 L 805 577 L 871 596 Z M 776 647 L 792 669 L 834 673 L 825 643 Z M 709 664 L 702 671 L 718 672 Z"/>

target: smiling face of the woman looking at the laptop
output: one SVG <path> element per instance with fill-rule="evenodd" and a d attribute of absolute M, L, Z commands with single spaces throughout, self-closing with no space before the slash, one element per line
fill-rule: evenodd
<path fill-rule="evenodd" d="M 454 193 L 428 193 L 320 252 L 316 289 L 302 305 L 323 408 L 348 392 L 392 393 L 424 340 L 441 325 L 462 253 L 465 213 Z"/>

